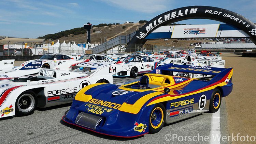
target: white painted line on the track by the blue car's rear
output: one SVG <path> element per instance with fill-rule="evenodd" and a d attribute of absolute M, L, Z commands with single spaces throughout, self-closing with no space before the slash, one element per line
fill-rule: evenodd
<path fill-rule="evenodd" d="M 211 135 L 210 144 L 220 144 L 221 143 L 221 113 L 220 109 L 212 114 L 212 123 L 211 123 Z"/>

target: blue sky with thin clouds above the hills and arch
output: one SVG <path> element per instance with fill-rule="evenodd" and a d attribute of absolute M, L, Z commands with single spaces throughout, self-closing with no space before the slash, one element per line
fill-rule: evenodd
<path fill-rule="evenodd" d="M 0 0 L 0 5 L 0 36 L 28 38 L 83 27 L 86 22 L 149 21 L 164 12 L 193 5 L 220 7 L 256 22 L 256 0 Z M 194 19 L 176 23 L 221 22 Z"/>

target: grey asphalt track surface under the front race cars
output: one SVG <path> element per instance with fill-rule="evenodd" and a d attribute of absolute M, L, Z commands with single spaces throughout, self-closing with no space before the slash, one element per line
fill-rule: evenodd
<path fill-rule="evenodd" d="M 138 79 L 141 76 L 133 79 Z M 114 78 L 113 83 L 133 80 Z M 211 143 L 212 134 L 228 134 L 225 98 L 219 116 L 203 113 L 183 121 L 166 124 L 155 134 L 145 134 L 136 138 L 118 138 L 95 133 L 62 121 L 71 103 L 49 108 L 37 108 L 33 114 L 24 117 L 11 116 L 0 119 L 0 143 L 2 144 L 54 144 L 54 143 Z M 215 123 L 214 118 L 219 119 Z M 173 136 L 176 137 L 173 139 Z M 194 137 L 190 141 L 188 137 Z M 198 140 L 199 136 L 199 140 Z M 209 139 L 207 139 L 209 137 Z M 216 134 L 214 135 L 216 137 Z M 171 139 L 170 139 L 171 138 Z M 178 139 L 179 138 L 179 139 Z M 185 139 L 186 138 L 186 139 Z M 206 139 L 205 139 L 206 138 Z M 206 140 L 206 141 L 205 141 Z M 189 142 L 190 141 L 190 142 Z M 215 143 L 218 143 L 217 140 Z M 221 142 L 226 143 L 226 142 Z"/>

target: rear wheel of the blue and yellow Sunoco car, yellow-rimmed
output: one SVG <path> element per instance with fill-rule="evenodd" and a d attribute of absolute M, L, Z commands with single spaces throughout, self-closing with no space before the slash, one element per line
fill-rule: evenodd
<path fill-rule="evenodd" d="M 219 107 L 221 107 L 221 91 L 219 89 L 214 89 L 212 92 L 212 96 L 210 99 L 210 107 L 209 107 L 209 112 L 210 113 L 215 113 L 216 111 L 219 110 Z"/>

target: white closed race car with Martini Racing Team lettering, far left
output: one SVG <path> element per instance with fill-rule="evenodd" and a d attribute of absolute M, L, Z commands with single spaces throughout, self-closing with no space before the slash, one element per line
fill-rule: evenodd
<path fill-rule="evenodd" d="M 68 61 L 75 61 L 78 58 L 72 55 L 63 54 L 63 53 L 46 53 L 38 60 L 30 60 L 22 65 L 25 65 L 29 62 L 42 62 L 42 68 L 54 68 L 62 63 L 68 62 Z M 22 66 L 21 65 L 21 66 Z"/>

